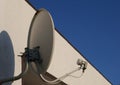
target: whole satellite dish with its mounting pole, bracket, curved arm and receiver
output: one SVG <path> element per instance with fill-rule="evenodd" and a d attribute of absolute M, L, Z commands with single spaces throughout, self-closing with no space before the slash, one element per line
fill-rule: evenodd
<path fill-rule="evenodd" d="M 78 60 L 77 64 L 79 67 L 77 69 L 66 73 L 56 80 L 46 80 L 43 74 L 47 71 L 52 58 L 53 41 L 53 20 L 50 13 L 46 9 L 42 8 L 36 12 L 32 19 L 28 33 L 27 48 L 25 48 L 25 52 L 21 55 L 21 57 L 25 58 L 25 70 L 16 77 L 0 80 L 0 84 L 20 79 L 28 71 L 29 65 L 31 65 L 33 70 L 49 84 L 59 83 L 64 78 L 80 69 L 84 72 L 87 63 L 85 61 Z"/>

